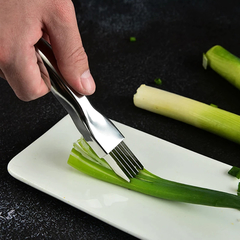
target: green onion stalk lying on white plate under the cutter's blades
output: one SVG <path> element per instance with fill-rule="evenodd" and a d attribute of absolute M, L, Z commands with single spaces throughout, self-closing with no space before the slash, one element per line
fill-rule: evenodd
<path fill-rule="evenodd" d="M 78 140 L 71 151 L 68 164 L 94 178 L 162 199 L 240 210 L 240 197 L 237 195 L 173 182 L 146 169 L 127 182 L 117 176 L 104 159 L 100 159 L 86 146 L 83 138 Z"/>

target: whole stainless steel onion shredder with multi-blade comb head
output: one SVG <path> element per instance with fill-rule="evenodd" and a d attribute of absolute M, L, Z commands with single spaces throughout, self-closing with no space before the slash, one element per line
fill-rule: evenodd
<path fill-rule="evenodd" d="M 109 119 L 92 107 L 86 96 L 79 95 L 67 84 L 57 70 L 50 44 L 40 39 L 37 48 L 48 71 L 51 81 L 49 88 L 53 95 L 67 110 L 98 157 L 104 158 L 118 176 L 129 182 L 143 169 L 143 165 L 124 143 L 124 136 Z"/>

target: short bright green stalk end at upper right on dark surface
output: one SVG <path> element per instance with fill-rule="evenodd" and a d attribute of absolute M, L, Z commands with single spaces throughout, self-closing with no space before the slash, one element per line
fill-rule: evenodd
<path fill-rule="evenodd" d="M 216 45 L 203 54 L 203 67 L 215 72 L 240 89 L 240 59 L 223 47 Z"/>

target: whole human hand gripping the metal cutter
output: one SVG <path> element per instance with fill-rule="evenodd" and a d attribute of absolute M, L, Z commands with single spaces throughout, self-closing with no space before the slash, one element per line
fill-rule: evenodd
<path fill-rule="evenodd" d="M 45 95 L 46 69 L 35 44 L 51 43 L 58 69 L 83 95 L 95 91 L 71 0 L 0 0 L 0 77 L 24 101 Z"/>

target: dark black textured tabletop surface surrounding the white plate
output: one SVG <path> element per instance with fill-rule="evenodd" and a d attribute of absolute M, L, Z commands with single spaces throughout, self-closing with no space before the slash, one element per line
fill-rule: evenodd
<path fill-rule="evenodd" d="M 240 114 L 240 92 L 211 70 L 202 53 L 216 44 L 240 56 L 240 4 L 215 0 L 74 1 L 97 83 L 92 104 L 106 116 L 240 167 L 240 147 L 203 130 L 134 107 L 142 84 Z M 129 37 L 136 37 L 130 42 Z M 18 100 L 0 81 L 0 239 L 134 239 L 15 179 L 8 162 L 66 115 L 51 94 Z M 181 157 L 181 156 L 179 156 Z M 117 217 L 117 216 L 116 216 Z"/>

